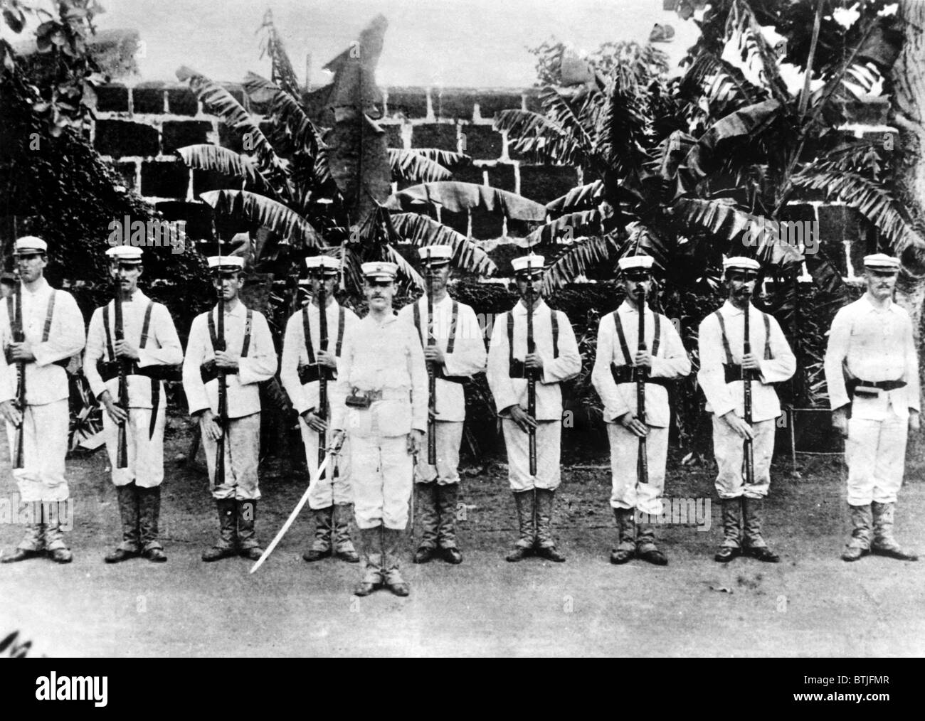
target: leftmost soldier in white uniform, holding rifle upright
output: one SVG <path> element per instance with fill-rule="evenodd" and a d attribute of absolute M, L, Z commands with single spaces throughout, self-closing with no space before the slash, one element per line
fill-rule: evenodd
<path fill-rule="evenodd" d="M 68 453 L 68 373 L 71 356 L 80 352 L 86 340 L 83 316 L 77 301 L 64 290 L 56 290 L 44 279 L 48 264 L 48 245 L 42 238 L 19 238 L 15 246 L 21 281 L 22 327 L 15 329 L 15 294 L 4 301 L 0 312 L 0 413 L 6 419 L 10 456 L 16 450 L 16 430 L 22 423 L 21 469 L 13 470 L 19 499 L 32 509 L 35 522 L 12 554 L 0 558 L 4 563 L 41 556 L 48 552 L 53 561 L 72 559 L 61 519 L 67 508 L 68 481 L 64 477 Z M 24 334 L 17 341 L 13 331 Z M 25 372 L 25 407 L 17 403 L 18 366 Z M 50 510 L 49 504 L 57 504 Z"/>

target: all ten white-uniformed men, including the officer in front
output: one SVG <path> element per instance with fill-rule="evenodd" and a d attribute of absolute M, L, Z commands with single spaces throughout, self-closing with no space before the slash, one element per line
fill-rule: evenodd
<path fill-rule="evenodd" d="M 83 370 L 105 406 L 104 434 L 122 525 L 122 541 L 106 562 L 135 556 L 166 561 L 158 535 L 166 419 L 163 378 L 181 362 L 219 518 L 218 540 L 203 553 L 203 561 L 238 555 L 259 559 L 264 554 L 254 528 L 260 499 L 259 384 L 277 373 L 277 353 L 265 317 L 240 301 L 241 259 L 209 259 L 222 298 L 223 323 L 217 307 L 197 316 L 184 355 L 166 307 L 138 288 L 141 249 L 107 251 L 120 282 L 121 318 L 114 302 L 97 309 L 86 339 L 74 299 L 43 278 L 43 239 L 19 238 L 16 253 L 20 286 L 6 301 L 7 312 L 0 312 L 6 350 L 0 361 L 0 412 L 11 451 L 19 448 L 11 456 L 21 460 L 13 470 L 20 499 L 37 510 L 17 549 L 0 560 L 15 562 L 46 552 L 59 563 L 71 560 L 60 514 L 45 508 L 69 496 L 68 379 L 63 365 L 80 353 L 85 340 Z M 517 541 L 506 558 L 565 560 L 551 530 L 561 482 L 561 383 L 580 372 L 582 361 L 569 319 L 542 298 L 544 259 L 533 254 L 514 259 L 521 299 L 494 324 L 486 353 L 475 312 L 447 292 L 450 247 L 422 248 L 420 255 L 431 301 L 423 297 L 394 312 L 397 266 L 364 263 L 369 312 L 363 319 L 334 299 L 339 262 L 327 256 L 307 259 L 314 300 L 291 316 L 283 343 L 279 377 L 301 418 L 308 468 L 316 470 L 327 450 L 333 460 L 308 490 L 314 539 L 303 557 L 316 561 L 338 556 L 355 563 L 362 555 L 363 579 L 354 591 L 361 595 L 383 586 L 399 595 L 409 593 L 398 549 L 414 485 L 423 528 L 414 562 L 437 556 L 462 562 L 454 523 L 465 419 L 462 383 L 482 371 L 487 371 L 501 419 L 519 521 Z M 652 259 L 632 256 L 619 264 L 625 299 L 600 321 L 592 372 L 611 444 L 610 503 L 618 533 L 611 562 L 638 557 L 665 565 L 653 525 L 637 519 L 662 513 L 669 389 L 672 381 L 690 373 L 691 363 L 673 324 L 646 305 Z M 712 414 L 716 489 L 722 501 L 723 541 L 715 559 L 728 562 L 745 554 L 776 562 L 779 556 L 761 532 L 771 483 L 774 419 L 781 414 L 773 384 L 791 377 L 796 360 L 774 318 L 750 302 L 759 264 L 740 257 L 725 260 L 723 266 L 728 299 L 700 324 L 697 373 Z M 896 259 L 882 254 L 865 259 L 867 293 L 838 312 L 826 353 L 833 422 L 847 438 L 853 524 L 843 554 L 848 561 L 870 551 L 916 559 L 893 536 L 907 429 L 918 429 L 919 423 L 911 323 L 892 301 L 898 267 Z M 323 311 L 319 297 L 326 299 Z M 327 328 L 333 329 L 325 347 L 320 342 L 322 312 Z M 116 332 L 117 320 L 121 333 Z M 127 373 L 127 403 L 119 402 L 120 362 Z M 428 368 L 435 376 L 432 396 Z M 219 376 L 225 379 L 225 398 L 220 397 Z M 321 407 L 322 378 L 330 381 L 327 408 Z M 18 395 L 19 389 L 24 394 Z M 120 427 L 128 450 L 124 464 L 117 463 Z M 429 457 L 428 441 L 436 451 Z M 351 539 L 351 516 L 359 529 L 361 554 Z"/>

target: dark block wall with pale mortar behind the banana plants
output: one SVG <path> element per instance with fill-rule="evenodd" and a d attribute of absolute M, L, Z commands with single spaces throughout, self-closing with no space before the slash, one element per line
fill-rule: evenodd
<path fill-rule="evenodd" d="M 240 86 L 226 86 L 239 101 Z M 456 178 L 520 193 L 536 202 L 549 202 L 582 182 L 579 168 L 531 165 L 512 153 L 506 133 L 492 128 L 494 116 L 507 108 L 538 109 L 536 89 L 395 87 L 384 89 L 382 125 L 392 148 L 440 148 L 473 158 Z M 93 128 L 96 149 L 108 156 L 127 187 L 170 219 L 186 219 L 193 239 L 211 238 L 209 209 L 197 200 L 209 189 L 228 187 L 216 174 L 191 171 L 174 153 L 193 143 L 217 143 L 242 150 L 240 137 L 216 116 L 203 113 L 202 104 L 183 85 L 144 82 L 134 87 L 113 84 L 97 92 Z M 311 103 L 311 96 L 306 100 Z M 873 136 L 884 143 L 898 142 L 895 128 L 886 124 L 888 105 L 862 104 L 851 109 L 846 134 Z M 261 116 L 257 116 L 262 119 Z M 854 275 L 859 259 L 876 238 L 856 212 L 845 205 L 820 203 L 806 194 L 788 210 L 793 219 L 818 219 L 822 243 L 846 277 Z M 523 235 L 524 224 L 503 223 L 490 214 L 442 214 L 443 222 L 474 238 L 488 240 Z M 848 242 L 845 242 L 848 241 Z M 504 245 L 502 239 L 500 245 Z M 496 244 L 492 244 L 494 247 Z M 491 251 L 497 252 L 497 251 Z"/>

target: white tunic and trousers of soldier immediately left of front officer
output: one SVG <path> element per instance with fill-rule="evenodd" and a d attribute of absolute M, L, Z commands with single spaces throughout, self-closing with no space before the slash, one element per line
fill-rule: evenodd
<path fill-rule="evenodd" d="M 308 366 L 308 349 L 305 348 L 305 313 L 308 313 L 309 333 L 312 338 L 312 354 L 317 360 L 318 349 L 321 348 L 321 323 L 318 307 L 310 303 L 299 312 L 291 315 L 286 324 L 286 337 L 283 341 L 283 357 L 279 367 L 279 380 L 282 382 L 290 401 L 299 413 L 299 428 L 302 431 L 302 444 L 305 446 L 305 463 L 309 472 L 314 476 L 318 467 L 318 433 L 309 428 L 308 423 L 302 419 L 302 413 L 308 409 L 318 411 L 318 394 L 320 383 L 309 381 L 302 384 L 299 380 L 299 369 Z M 337 301 L 327 304 L 325 317 L 327 319 L 327 352 L 338 358 L 343 352 L 343 336 L 340 336 L 340 315 L 343 314 L 343 335 L 346 336 L 354 324 L 360 322 L 356 313 L 349 308 L 342 308 Z M 317 366 L 315 366 L 317 367 Z M 331 418 L 330 409 L 343 405 L 343 398 L 338 396 L 339 387 L 336 381 L 327 382 L 327 409 L 326 417 Z M 351 466 L 350 448 L 346 444 L 340 449 L 340 454 L 328 463 L 322 477 L 313 483 L 308 494 L 308 506 L 313 509 L 327 508 L 332 504 L 342 505 L 352 503 L 351 495 Z"/>

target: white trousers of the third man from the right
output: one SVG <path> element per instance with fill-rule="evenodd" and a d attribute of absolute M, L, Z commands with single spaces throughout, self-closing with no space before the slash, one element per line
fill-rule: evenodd
<path fill-rule="evenodd" d="M 665 462 L 668 459 L 668 429 L 649 426 L 646 436 L 648 483 L 639 483 L 639 436 L 620 423 L 607 424 L 611 441 L 611 507 L 637 508 L 659 515 L 665 491 Z"/>

